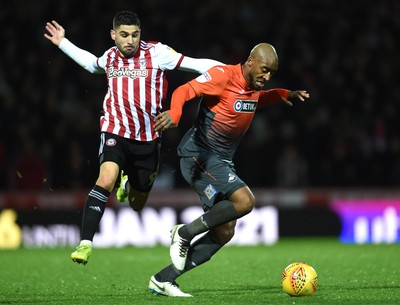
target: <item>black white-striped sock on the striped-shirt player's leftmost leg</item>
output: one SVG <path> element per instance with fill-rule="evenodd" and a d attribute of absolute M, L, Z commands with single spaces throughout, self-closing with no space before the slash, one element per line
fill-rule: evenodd
<path fill-rule="evenodd" d="M 95 185 L 90 191 L 83 211 L 81 239 L 93 240 L 110 192 Z"/>

